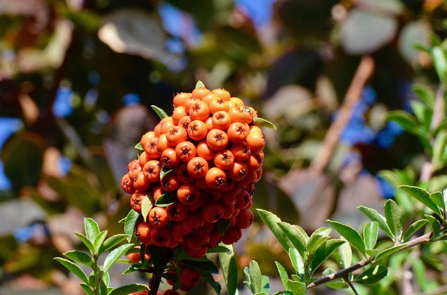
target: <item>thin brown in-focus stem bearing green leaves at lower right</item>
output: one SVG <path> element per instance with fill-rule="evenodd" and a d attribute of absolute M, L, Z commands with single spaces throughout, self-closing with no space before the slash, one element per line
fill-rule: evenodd
<path fill-rule="evenodd" d="M 430 232 L 428 234 L 424 234 L 423 236 L 419 236 L 416 239 L 406 242 L 402 248 L 400 248 L 396 252 L 391 253 L 390 255 L 393 255 L 397 252 L 401 252 L 403 250 L 406 250 L 408 248 L 414 247 L 414 246 L 422 244 L 422 243 L 430 242 L 430 239 L 432 238 L 432 236 L 433 236 L 432 232 Z M 385 257 L 383 257 L 383 258 L 385 258 Z M 349 273 L 357 271 L 358 269 L 362 268 L 363 266 L 367 266 L 368 264 L 372 264 L 373 262 L 376 262 L 376 261 L 374 259 L 363 259 L 362 261 L 360 261 L 356 264 L 353 264 L 352 266 L 343 268 L 341 271 L 337 271 L 337 273 L 332 273 L 331 275 L 326 275 L 323 278 L 319 278 L 315 282 L 312 282 L 311 284 L 307 285 L 307 289 L 311 289 L 318 285 L 323 285 L 326 282 L 330 282 L 330 281 L 338 279 L 338 278 L 346 278 L 346 276 L 349 275 Z"/>

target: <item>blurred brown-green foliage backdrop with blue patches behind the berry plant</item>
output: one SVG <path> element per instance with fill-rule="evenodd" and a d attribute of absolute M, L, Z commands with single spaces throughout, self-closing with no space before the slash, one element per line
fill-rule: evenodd
<path fill-rule="evenodd" d="M 150 105 L 172 112 L 173 95 L 198 80 L 278 128 L 265 130 L 255 207 L 309 232 L 327 218 L 358 225 L 356 206 L 379 209 L 395 195 L 379 171 L 422 162 L 423 146 L 386 112 L 410 110 L 414 83 L 436 89 L 430 55 L 416 45 L 446 36 L 446 8 L 441 0 L 0 1 L 0 290 L 79 294 L 52 257 L 79 247 L 73 232 L 83 216 L 122 232 L 130 204 L 119 183 L 156 124 Z M 374 62 L 358 82 L 365 56 Z M 439 179 L 437 189 L 446 186 Z M 247 229 L 235 245 L 240 266 L 256 259 L 275 275 L 274 261 L 287 265 L 271 237 L 260 223 Z"/>

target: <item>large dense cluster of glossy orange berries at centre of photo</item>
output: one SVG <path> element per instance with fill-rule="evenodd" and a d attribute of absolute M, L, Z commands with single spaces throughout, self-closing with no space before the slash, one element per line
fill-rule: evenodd
<path fill-rule="evenodd" d="M 253 222 L 265 138 L 254 125 L 256 111 L 226 90 L 196 88 L 173 104 L 173 114 L 142 136 L 144 151 L 129 163 L 122 188 L 138 213 L 146 196 L 152 201 L 146 221 L 136 225 L 142 243 L 180 243 L 189 256 L 203 257 L 219 242 L 238 241 Z M 173 202 L 157 205 L 169 193 Z"/>

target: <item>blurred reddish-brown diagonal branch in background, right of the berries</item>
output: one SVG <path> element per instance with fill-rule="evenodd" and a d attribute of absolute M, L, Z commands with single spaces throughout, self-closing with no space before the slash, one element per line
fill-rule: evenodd
<path fill-rule="evenodd" d="M 351 118 L 353 108 L 362 95 L 362 89 L 366 82 L 374 72 L 374 60 L 371 56 L 363 56 L 360 64 L 358 65 L 356 74 L 353 77 L 351 85 L 342 106 L 339 109 L 339 114 L 335 118 L 335 121 L 330 126 L 328 133 L 326 133 L 323 141 L 323 146 L 318 151 L 317 156 L 312 160 L 310 165 L 311 170 L 316 174 L 322 174 L 325 168 L 328 166 L 332 154 L 337 147 L 340 135 Z"/>

